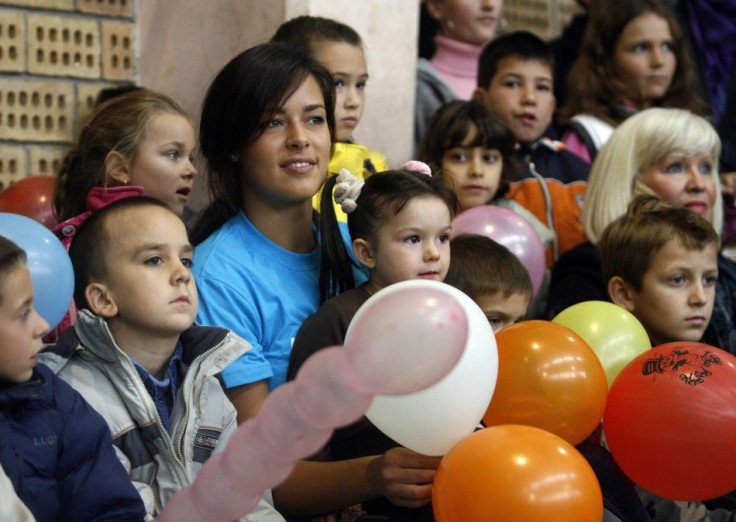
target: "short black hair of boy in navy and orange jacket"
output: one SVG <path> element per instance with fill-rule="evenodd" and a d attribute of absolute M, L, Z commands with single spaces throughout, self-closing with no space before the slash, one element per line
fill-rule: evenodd
<path fill-rule="evenodd" d="M 514 31 L 494 38 L 483 48 L 478 58 L 478 87 L 488 89 L 498 62 L 509 56 L 542 62 L 549 66 L 550 74 L 554 72 L 555 59 L 549 44 L 529 31 Z"/>

